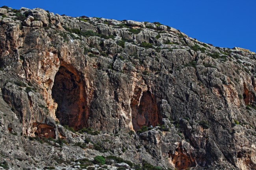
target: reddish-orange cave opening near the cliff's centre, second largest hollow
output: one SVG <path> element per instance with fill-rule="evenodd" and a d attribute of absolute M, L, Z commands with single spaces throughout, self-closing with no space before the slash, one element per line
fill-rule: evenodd
<path fill-rule="evenodd" d="M 141 89 L 135 90 L 134 97 L 131 101 L 132 125 L 135 132 L 142 126 L 157 126 L 159 124 L 159 112 L 156 100 L 150 91 L 144 91 L 139 100 Z M 137 101 L 137 102 L 136 102 Z"/>

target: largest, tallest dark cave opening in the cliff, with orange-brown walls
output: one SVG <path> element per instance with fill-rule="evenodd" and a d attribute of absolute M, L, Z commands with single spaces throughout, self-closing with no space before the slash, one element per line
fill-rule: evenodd
<path fill-rule="evenodd" d="M 54 78 L 52 97 L 58 104 L 56 117 L 61 125 L 68 125 L 75 130 L 86 126 L 87 106 L 84 82 L 72 68 L 59 68 Z"/>

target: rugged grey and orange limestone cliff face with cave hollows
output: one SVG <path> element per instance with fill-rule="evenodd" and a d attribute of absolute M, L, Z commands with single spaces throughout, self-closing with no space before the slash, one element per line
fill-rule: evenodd
<path fill-rule="evenodd" d="M 256 170 L 253 53 L 160 23 L 4 11 L 1 166 Z"/>

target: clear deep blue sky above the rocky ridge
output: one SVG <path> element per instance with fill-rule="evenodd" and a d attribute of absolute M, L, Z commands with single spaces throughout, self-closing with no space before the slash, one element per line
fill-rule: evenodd
<path fill-rule="evenodd" d="M 218 47 L 256 52 L 256 0 L 1 0 L 13 9 L 160 22 Z"/>

